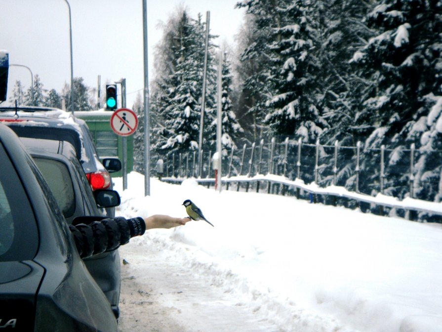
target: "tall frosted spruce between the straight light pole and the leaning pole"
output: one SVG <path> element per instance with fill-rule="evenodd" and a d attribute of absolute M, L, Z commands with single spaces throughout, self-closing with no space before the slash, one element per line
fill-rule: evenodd
<path fill-rule="evenodd" d="M 213 36 L 210 37 L 212 38 Z M 210 43 L 210 48 L 213 47 Z M 163 37 L 157 45 L 155 58 L 155 98 L 152 102 L 158 110 L 158 125 L 153 129 L 157 135 L 153 148 L 162 155 L 197 150 L 204 63 L 204 29 L 201 17 L 193 20 L 185 9 L 179 8 L 164 25 Z M 213 88 L 215 82 L 210 61 L 211 55 L 208 58 L 208 89 Z M 207 96 L 206 110 L 210 113 L 214 109 L 214 97 L 210 91 Z"/>

